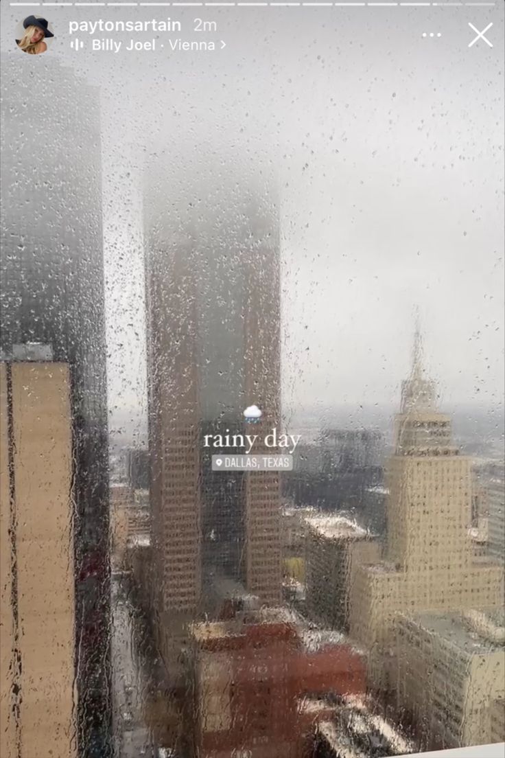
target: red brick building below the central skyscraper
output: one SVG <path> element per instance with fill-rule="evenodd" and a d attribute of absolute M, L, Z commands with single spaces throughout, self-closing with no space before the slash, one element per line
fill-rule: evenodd
<path fill-rule="evenodd" d="M 195 754 L 305 758 L 326 697 L 363 694 L 363 656 L 285 609 L 192 626 Z M 317 702 L 317 697 L 321 702 Z M 309 707 L 310 706 L 310 707 Z"/>

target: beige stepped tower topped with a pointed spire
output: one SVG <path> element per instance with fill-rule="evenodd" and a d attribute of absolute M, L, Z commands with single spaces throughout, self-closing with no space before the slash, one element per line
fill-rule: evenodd
<path fill-rule="evenodd" d="M 351 587 L 351 636 L 369 650 L 370 674 L 387 687 L 398 612 L 450 611 L 503 603 L 503 568 L 474 556 L 470 461 L 437 409 L 416 334 L 387 471 L 388 534 L 382 561 L 358 569 Z"/>

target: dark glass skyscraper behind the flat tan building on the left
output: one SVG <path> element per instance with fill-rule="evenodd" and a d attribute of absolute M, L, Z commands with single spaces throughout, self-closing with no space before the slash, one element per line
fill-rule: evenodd
<path fill-rule="evenodd" d="M 30 356 L 35 344 L 36 355 L 69 367 L 76 739 L 82 755 L 106 756 L 110 600 L 98 92 L 44 56 L 5 56 L 2 70 L 2 354 Z"/>

